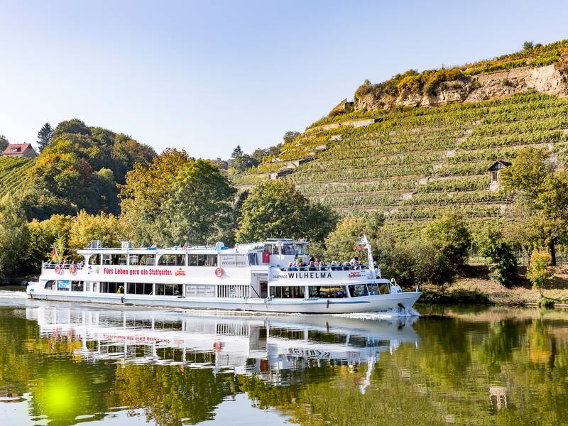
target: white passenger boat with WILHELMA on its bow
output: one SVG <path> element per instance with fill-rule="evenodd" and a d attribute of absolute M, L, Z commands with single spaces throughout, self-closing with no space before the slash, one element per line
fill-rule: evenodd
<path fill-rule="evenodd" d="M 269 239 L 215 246 L 78 250 L 84 261 L 43 263 L 28 297 L 253 312 L 338 314 L 408 310 L 421 293 L 382 278 L 366 237 L 368 266 L 290 267 L 307 261 L 308 244 Z"/>

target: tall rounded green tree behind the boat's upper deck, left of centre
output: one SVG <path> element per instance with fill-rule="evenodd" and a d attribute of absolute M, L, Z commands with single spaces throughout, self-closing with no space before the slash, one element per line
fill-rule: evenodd
<path fill-rule="evenodd" d="M 175 178 L 158 217 L 163 244 L 234 240 L 236 190 L 208 160 L 187 163 Z"/>

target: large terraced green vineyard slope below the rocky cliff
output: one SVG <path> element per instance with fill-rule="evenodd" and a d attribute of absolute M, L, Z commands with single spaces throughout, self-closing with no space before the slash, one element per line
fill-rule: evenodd
<path fill-rule="evenodd" d="M 500 217 L 508 204 L 490 190 L 491 164 L 513 161 L 526 146 L 546 148 L 562 162 L 568 147 L 568 99 L 534 92 L 371 119 L 368 111 L 357 114 L 310 126 L 273 163 L 236 177 L 236 185 L 284 170 L 307 197 L 341 214 L 380 209 L 392 224 L 412 229 L 452 210 L 479 223 Z"/>

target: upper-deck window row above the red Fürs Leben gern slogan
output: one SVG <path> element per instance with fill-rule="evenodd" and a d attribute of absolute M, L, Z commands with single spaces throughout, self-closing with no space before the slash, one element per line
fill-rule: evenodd
<path fill-rule="evenodd" d="M 220 266 L 225 268 L 247 267 L 256 265 L 256 254 L 223 254 L 220 257 Z M 155 266 L 155 254 L 107 254 L 96 253 L 89 257 L 89 265 L 131 265 Z M 158 266 L 217 266 L 217 254 L 163 254 L 158 258 Z"/>

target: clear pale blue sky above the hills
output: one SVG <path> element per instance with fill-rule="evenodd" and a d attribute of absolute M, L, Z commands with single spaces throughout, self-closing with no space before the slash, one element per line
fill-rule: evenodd
<path fill-rule="evenodd" d="M 278 143 L 368 78 L 568 38 L 567 1 L 0 0 L 0 134 L 77 117 L 160 152 Z"/>

